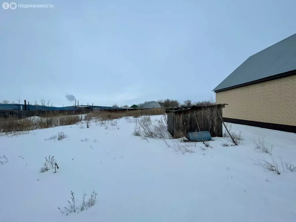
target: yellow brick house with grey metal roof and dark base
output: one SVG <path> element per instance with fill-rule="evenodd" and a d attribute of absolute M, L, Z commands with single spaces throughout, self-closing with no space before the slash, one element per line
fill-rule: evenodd
<path fill-rule="evenodd" d="M 214 90 L 225 122 L 296 133 L 296 34 L 258 52 Z"/>

